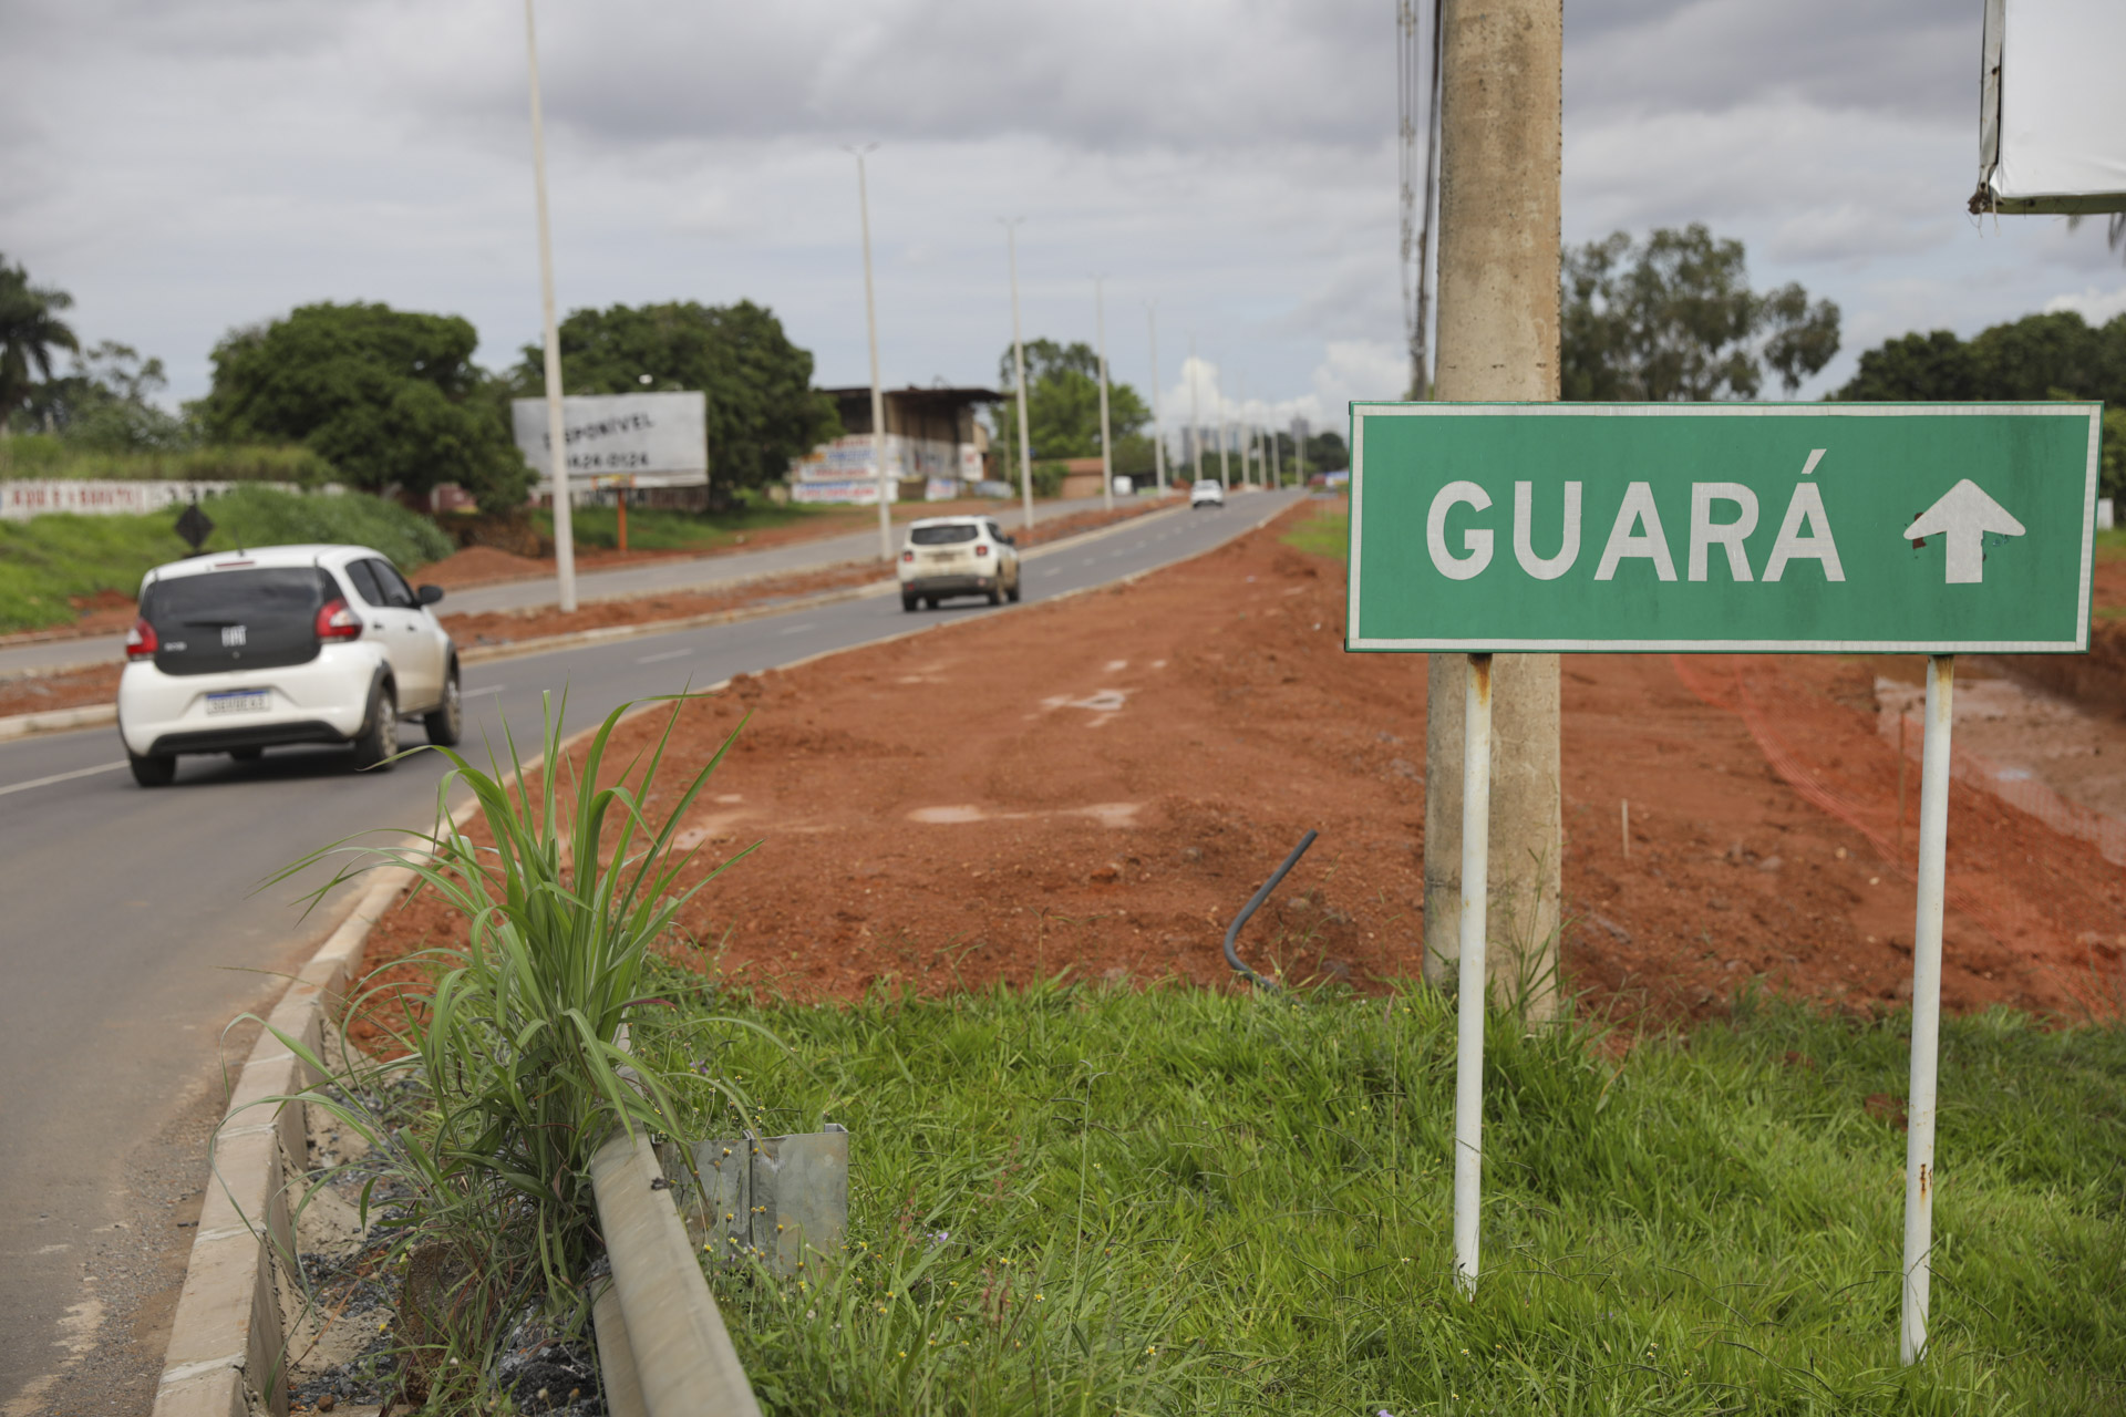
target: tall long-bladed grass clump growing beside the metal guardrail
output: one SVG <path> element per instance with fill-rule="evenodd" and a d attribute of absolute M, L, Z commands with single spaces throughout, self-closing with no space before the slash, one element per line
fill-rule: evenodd
<path fill-rule="evenodd" d="M 610 737 L 629 707 L 591 735 L 576 771 L 551 705 L 544 771 L 527 771 L 514 741 L 508 773 L 436 748 L 451 771 L 438 786 L 436 826 L 415 850 L 349 839 L 274 877 L 353 852 L 355 863 L 313 901 L 366 869 L 406 865 L 415 897 L 429 894 L 466 922 L 461 945 L 415 956 L 425 984 L 370 975 L 353 990 L 334 1058 L 283 1037 L 325 1075 L 304 1100 L 370 1149 L 359 1162 L 361 1222 L 387 1215 L 381 1264 L 404 1273 L 398 1343 L 408 1379 L 400 1396 L 421 1400 L 427 1389 L 436 1411 L 493 1392 L 495 1349 L 527 1313 L 580 1328 L 595 1251 L 591 1154 L 617 1126 L 663 1134 L 676 1126 L 672 1079 L 629 1058 L 623 1026 L 661 1005 L 651 996 L 651 947 L 729 865 L 691 873 L 693 852 L 672 843 L 729 741 L 653 822 L 680 703 L 646 756 L 614 765 Z M 472 792 L 485 831 L 451 820 L 444 807 L 455 790 Z M 376 1024 L 378 1056 L 349 1045 L 353 1018 Z M 359 1100 L 391 1094 L 387 1083 L 406 1075 L 417 1117 Z M 691 1081 L 744 1103 L 721 1079 Z M 327 1171 L 310 1194 L 338 1179 Z"/>

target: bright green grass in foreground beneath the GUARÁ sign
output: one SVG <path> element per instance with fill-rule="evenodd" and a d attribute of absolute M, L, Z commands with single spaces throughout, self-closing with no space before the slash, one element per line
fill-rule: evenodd
<path fill-rule="evenodd" d="M 733 1077 L 763 1132 L 855 1132 L 846 1260 L 716 1279 L 772 1413 L 2126 1409 L 2120 1028 L 1943 1024 L 1933 1349 L 1901 1370 L 1905 1137 L 1865 1100 L 1905 1092 L 1903 1015 L 1743 998 L 1624 1058 L 1495 1018 L 1465 1302 L 1439 994 L 716 1003 L 782 1052 L 699 990 L 668 977 L 638 1049 Z"/>

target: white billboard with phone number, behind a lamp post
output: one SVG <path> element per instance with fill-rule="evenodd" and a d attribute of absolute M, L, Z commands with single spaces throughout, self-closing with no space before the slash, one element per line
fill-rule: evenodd
<path fill-rule="evenodd" d="M 546 399 L 510 399 L 517 448 L 553 491 Z M 583 393 L 561 399 L 568 476 L 576 486 L 702 486 L 708 482 L 708 399 L 685 393 Z"/>

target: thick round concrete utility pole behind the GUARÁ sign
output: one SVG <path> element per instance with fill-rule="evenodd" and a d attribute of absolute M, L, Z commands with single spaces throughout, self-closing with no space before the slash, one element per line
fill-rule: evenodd
<path fill-rule="evenodd" d="M 1441 399 L 1558 397 L 1560 0 L 1446 0 L 1439 110 Z M 1563 476 L 1563 474 L 1558 474 Z M 1433 654 L 1424 690 L 1424 977 L 1461 960 L 1467 654 Z M 1558 656 L 1492 661 L 1488 973 L 1554 1018 Z"/>

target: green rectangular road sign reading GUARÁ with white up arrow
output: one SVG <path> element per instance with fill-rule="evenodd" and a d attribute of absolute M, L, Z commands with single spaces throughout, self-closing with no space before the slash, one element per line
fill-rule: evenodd
<path fill-rule="evenodd" d="M 2100 404 L 1352 404 L 1352 650 L 2088 650 Z"/>

